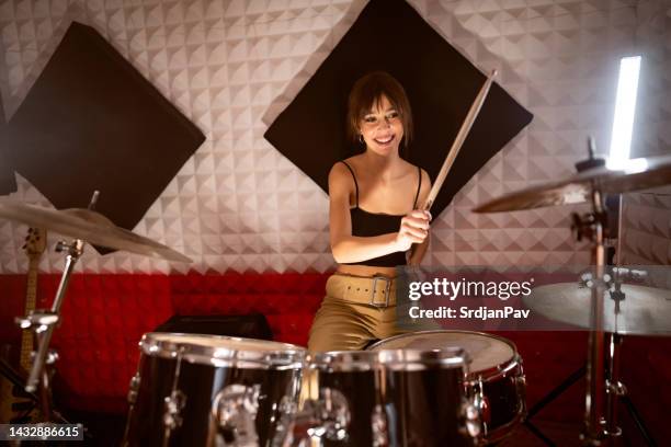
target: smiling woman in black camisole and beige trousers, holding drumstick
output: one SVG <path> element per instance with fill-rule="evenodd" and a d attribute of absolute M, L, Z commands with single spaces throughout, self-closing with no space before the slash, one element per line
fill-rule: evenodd
<path fill-rule="evenodd" d="M 395 267 L 419 264 L 429 242 L 431 216 L 418 207 L 431 182 L 399 154 L 412 137 L 412 116 L 403 88 L 390 74 L 373 72 L 356 81 L 348 134 L 365 150 L 329 173 L 331 250 L 339 265 L 315 316 L 310 352 L 363 349 L 397 334 Z M 419 245 L 409 251 L 413 244 Z"/>

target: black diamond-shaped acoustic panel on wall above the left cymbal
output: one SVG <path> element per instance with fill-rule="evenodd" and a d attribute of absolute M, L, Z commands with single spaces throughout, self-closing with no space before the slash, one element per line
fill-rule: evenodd
<path fill-rule="evenodd" d="M 10 165 L 56 208 L 132 229 L 205 136 L 95 30 L 73 22 L 7 129 Z"/>

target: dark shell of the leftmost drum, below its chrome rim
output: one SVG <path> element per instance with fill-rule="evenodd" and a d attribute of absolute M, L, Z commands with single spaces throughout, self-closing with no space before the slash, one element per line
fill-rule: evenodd
<path fill-rule="evenodd" d="M 132 385 L 132 400 L 124 445 L 126 446 L 215 446 L 217 424 L 213 402 L 230 385 L 259 386 L 255 429 L 260 446 L 270 446 L 278 431 L 282 405 L 297 404 L 300 368 L 250 368 L 216 366 L 182 358 L 177 387 L 184 396 L 181 424 L 166 431 L 166 398 L 173 390 L 177 357 L 148 355 L 143 352 L 138 380 Z M 135 388 L 135 389 L 134 389 Z M 130 398 L 132 396 L 132 398 Z M 168 434 L 168 444 L 164 444 Z"/>

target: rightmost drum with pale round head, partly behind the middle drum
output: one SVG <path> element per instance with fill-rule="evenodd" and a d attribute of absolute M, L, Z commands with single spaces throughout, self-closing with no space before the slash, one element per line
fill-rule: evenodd
<path fill-rule="evenodd" d="M 481 332 L 425 331 L 393 336 L 369 349 L 445 349 L 463 347 L 471 358 L 466 394 L 482 417 L 485 440 L 494 443 L 512 433 L 526 414 L 522 358 L 507 339 Z"/>

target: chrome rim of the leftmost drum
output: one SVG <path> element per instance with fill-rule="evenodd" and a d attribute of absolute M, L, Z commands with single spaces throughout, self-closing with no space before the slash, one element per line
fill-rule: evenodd
<path fill-rule="evenodd" d="M 163 337 L 164 336 L 164 337 Z M 270 343 L 277 349 L 251 351 L 226 346 L 205 346 L 192 342 L 181 342 L 180 337 L 208 339 L 232 342 Z M 170 340 L 172 339 L 172 340 Z M 182 332 L 148 332 L 139 341 L 143 354 L 152 357 L 178 358 L 195 364 L 214 366 L 235 366 L 248 369 L 298 369 L 306 356 L 304 347 L 289 343 L 229 335 L 189 334 Z M 185 348 L 182 348 L 185 347 Z M 284 349 L 280 347 L 285 347 Z"/>

